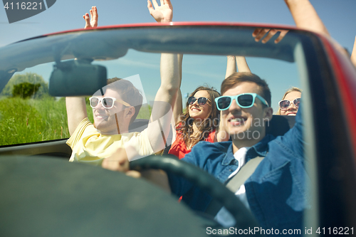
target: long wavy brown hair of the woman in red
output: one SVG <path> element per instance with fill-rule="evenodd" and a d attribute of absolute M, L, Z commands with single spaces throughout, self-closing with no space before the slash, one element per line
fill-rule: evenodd
<path fill-rule="evenodd" d="M 220 93 L 215 90 L 214 88 L 210 88 L 207 86 L 199 86 L 199 88 L 195 89 L 190 96 L 194 96 L 199 90 L 206 90 L 209 94 L 209 100 L 207 103 L 210 105 L 211 110 L 209 115 L 201 121 L 201 125 L 198 126 L 199 128 L 199 136 L 193 135 L 193 122 L 194 118 L 190 117 L 189 115 L 189 104 L 187 102 L 187 110 L 180 115 L 181 120 L 176 124 L 176 130 L 179 135 L 182 136 L 184 139 L 185 144 L 187 147 L 193 147 L 200 141 L 204 141 L 207 137 L 209 137 L 209 133 L 219 127 L 219 110 L 216 107 L 215 98 L 220 96 Z"/>

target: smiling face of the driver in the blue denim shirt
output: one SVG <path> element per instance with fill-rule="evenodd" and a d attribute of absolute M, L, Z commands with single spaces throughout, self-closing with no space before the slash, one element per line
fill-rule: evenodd
<path fill-rule="evenodd" d="M 242 93 L 261 95 L 259 86 L 251 82 L 238 83 L 226 90 L 224 95 Z M 271 119 L 272 113 L 272 108 L 264 106 L 258 98 L 249 108 L 241 108 L 236 100 L 233 100 L 229 109 L 221 111 L 221 120 L 224 122 L 224 130 L 229 133 L 234 145 L 251 147 L 266 135 L 265 122 Z"/>

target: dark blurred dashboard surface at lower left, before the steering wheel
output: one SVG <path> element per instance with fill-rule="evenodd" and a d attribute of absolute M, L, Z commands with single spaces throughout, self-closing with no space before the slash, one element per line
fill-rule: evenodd
<path fill-rule="evenodd" d="M 58 157 L 0 156 L 0 190 L 1 236 L 203 237 L 209 222 L 143 179 Z"/>

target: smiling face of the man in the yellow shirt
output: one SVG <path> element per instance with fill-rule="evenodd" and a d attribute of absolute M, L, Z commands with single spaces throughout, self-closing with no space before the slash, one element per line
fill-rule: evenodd
<path fill-rule="evenodd" d="M 119 93 L 111 89 L 106 90 L 104 96 L 98 96 L 98 98 L 103 97 L 112 97 L 121 100 Z M 125 131 L 127 123 L 124 116 L 125 108 L 127 107 L 117 101 L 114 102 L 114 106 L 111 109 L 105 109 L 101 102 L 98 103 L 93 108 L 94 127 L 104 135 L 112 135 L 117 134 L 118 131 Z"/>

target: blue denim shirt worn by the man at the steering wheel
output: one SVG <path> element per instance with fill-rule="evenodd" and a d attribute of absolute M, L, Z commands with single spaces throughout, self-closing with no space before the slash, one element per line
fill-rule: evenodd
<path fill-rule="evenodd" d="M 262 228 L 296 229 L 303 233 L 303 211 L 308 208 L 305 184 L 303 123 L 301 110 L 295 125 L 285 135 L 266 135 L 246 153 L 246 160 L 265 157 L 245 181 L 251 212 Z M 225 183 L 238 167 L 232 142 L 199 142 L 187 154 L 185 162 L 194 164 Z M 189 181 L 169 174 L 172 192 L 183 196 L 194 210 L 205 211 L 211 197 L 192 186 Z"/>

